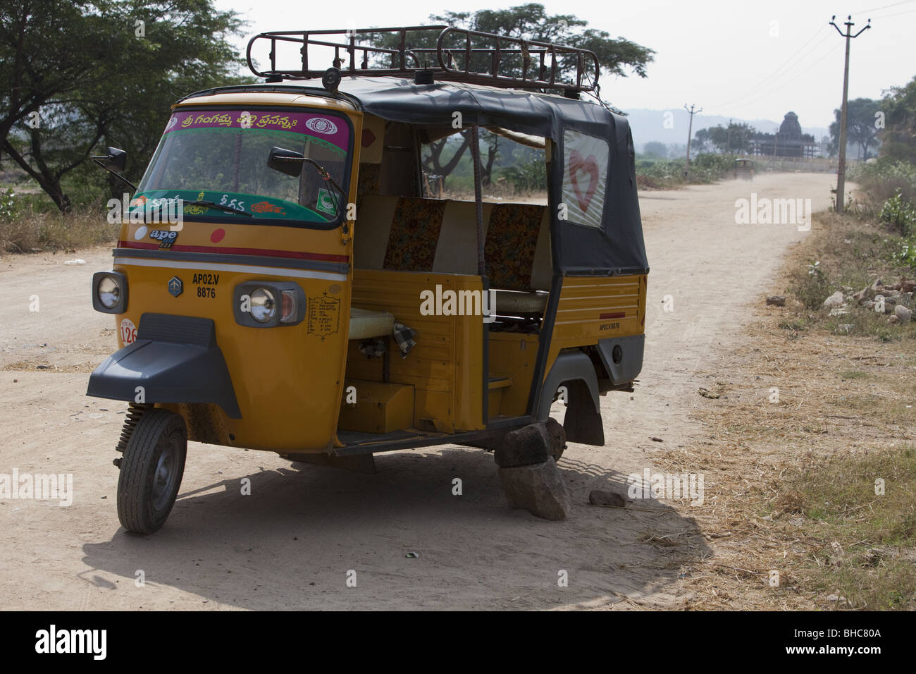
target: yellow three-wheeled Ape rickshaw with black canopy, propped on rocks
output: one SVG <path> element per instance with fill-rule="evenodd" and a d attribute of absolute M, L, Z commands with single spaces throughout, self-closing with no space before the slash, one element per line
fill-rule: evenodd
<path fill-rule="evenodd" d="M 314 70 L 322 50 L 333 67 Z M 248 63 L 265 83 L 172 106 L 93 277 L 119 350 L 88 394 L 129 403 L 122 525 L 163 525 L 188 439 L 354 470 L 446 443 L 504 470 L 559 459 L 564 439 L 603 446 L 599 396 L 642 366 L 649 268 L 627 120 L 582 99 L 594 53 L 374 28 L 263 33 Z M 539 153 L 547 204 L 484 199 L 483 129 Z M 455 134 L 473 200 L 424 193 L 421 153 Z M 114 148 L 98 160 L 124 166 Z M 565 438 L 510 442 L 558 397 Z"/>

